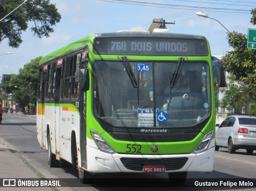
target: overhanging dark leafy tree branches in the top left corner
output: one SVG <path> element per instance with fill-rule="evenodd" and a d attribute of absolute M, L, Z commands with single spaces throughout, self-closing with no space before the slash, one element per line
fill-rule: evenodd
<path fill-rule="evenodd" d="M 4 0 L 1 3 L 0 18 L 4 18 L 22 2 L 24 0 Z M 29 0 L 0 22 L 0 42 L 8 39 L 10 47 L 19 47 L 22 43 L 21 34 L 27 30 L 28 22 L 33 23 L 30 30 L 34 35 L 39 38 L 49 37 L 54 32 L 52 26 L 60 22 L 60 19 L 55 4 L 50 4 L 50 0 Z"/>

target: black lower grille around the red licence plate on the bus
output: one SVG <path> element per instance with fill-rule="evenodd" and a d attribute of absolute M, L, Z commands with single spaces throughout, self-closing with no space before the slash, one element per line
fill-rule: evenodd
<path fill-rule="evenodd" d="M 142 171 L 145 165 L 158 165 L 165 166 L 165 169 L 168 171 L 181 169 L 188 161 L 188 158 L 161 158 L 154 160 L 150 158 L 120 158 L 120 160 L 130 170 Z"/>

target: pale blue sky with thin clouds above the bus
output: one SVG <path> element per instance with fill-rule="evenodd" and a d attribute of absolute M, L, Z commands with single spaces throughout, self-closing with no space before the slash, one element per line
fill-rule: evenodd
<path fill-rule="evenodd" d="M 90 33 L 116 32 L 119 30 L 148 30 L 154 18 L 163 18 L 171 33 L 205 36 L 212 55 L 224 55 L 229 47 L 227 30 L 248 34 L 250 10 L 256 8 L 255 0 L 50 0 L 56 4 L 62 19 L 53 27 L 50 37 L 34 36 L 30 27 L 22 33 L 18 48 L 0 43 L 0 77 L 2 74 L 18 74 L 24 64 L 49 53 Z M 210 18 L 197 16 L 203 12 Z"/>

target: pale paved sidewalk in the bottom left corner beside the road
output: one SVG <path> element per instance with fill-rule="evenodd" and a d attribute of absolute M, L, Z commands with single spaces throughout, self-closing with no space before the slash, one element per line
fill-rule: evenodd
<path fill-rule="evenodd" d="M 14 151 L 0 142 L 0 181 L 3 179 L 40 178 Z M 3 182 L 0 182 L 3 185 Z M 17 182 L 16 182 L 17 185 Z M 53 191 L 50 187 L 0 187 L 0 191 Z"/>

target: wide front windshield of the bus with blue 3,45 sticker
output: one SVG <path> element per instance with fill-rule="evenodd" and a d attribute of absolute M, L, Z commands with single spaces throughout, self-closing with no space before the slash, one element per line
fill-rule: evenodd
<path fill-rule="evenodd" d="M 184 61 L 171 87 L 179 61 L 128 62 L 138 86 L 124 60 L 94 62 L 93 112 L 99 120 L 117 127 L 168 128 L 194 126 L 210 114 L 208 63 Z"/>

